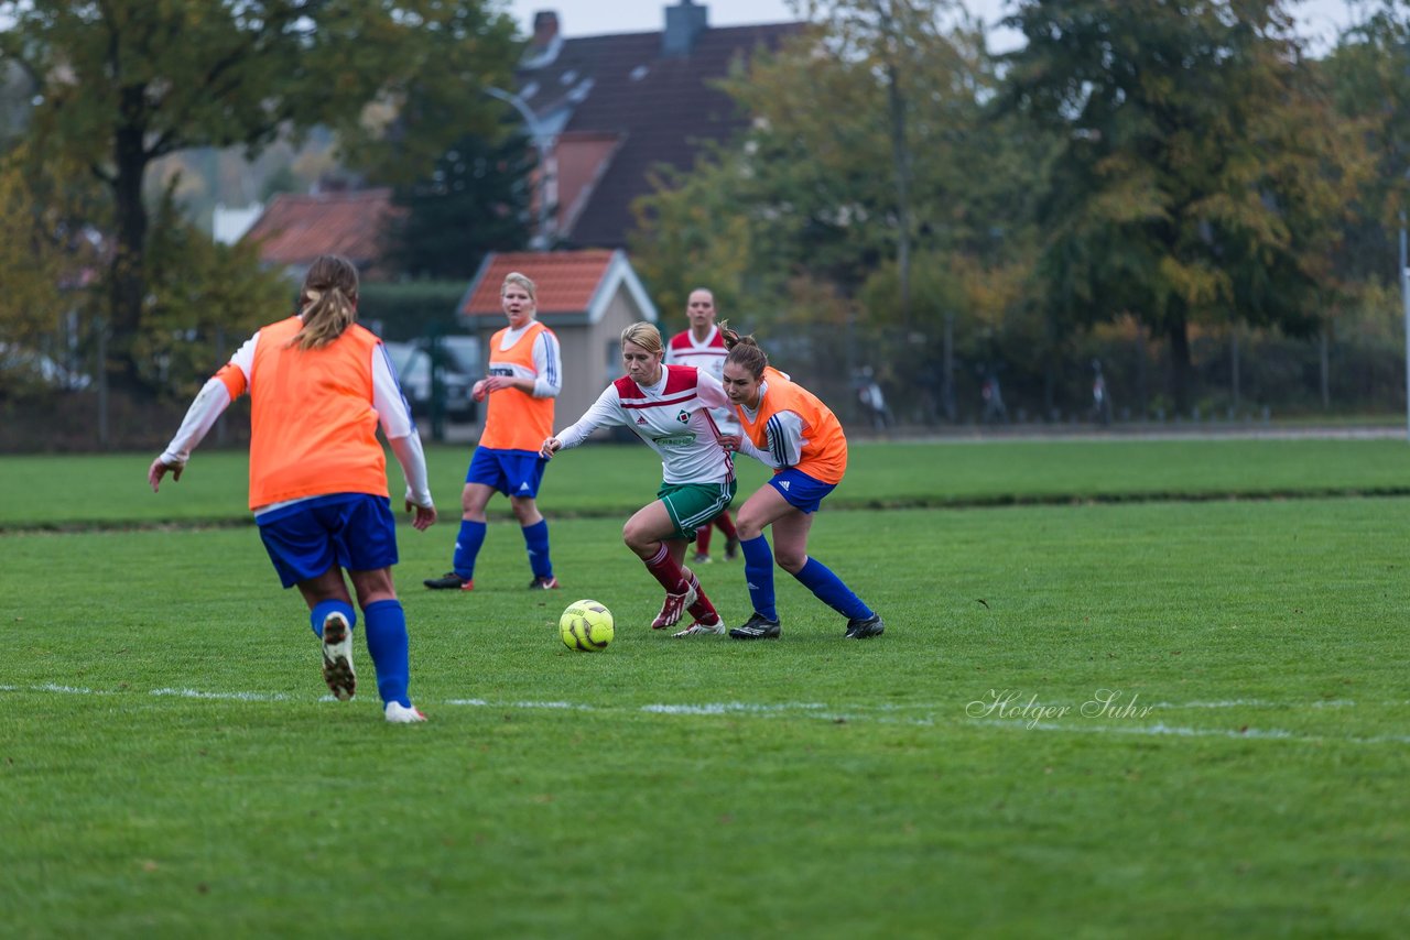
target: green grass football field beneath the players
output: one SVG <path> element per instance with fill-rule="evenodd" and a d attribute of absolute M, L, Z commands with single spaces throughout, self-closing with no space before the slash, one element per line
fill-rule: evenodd
<path fill-rule="evenodd" d="M 885 616 L 864 643 L 787 575 L 777 643 L 649 630 L 646 448 L 550 466 L 563 590 L 508 521 L 474 593 L 423 590 L 467 457 L 400 531 L 413 727 L 361 636 L 327 698 L 224 524 L 241 455 L 157 496 L 149 455 L 0 461 L 7 936 L 1410 929 L 1403 443 L 857 447 L 811 550 Z M 742 621 L 740 567 L 699 574 Z M 557 640 L 581 596 L 605 653 Z"/>

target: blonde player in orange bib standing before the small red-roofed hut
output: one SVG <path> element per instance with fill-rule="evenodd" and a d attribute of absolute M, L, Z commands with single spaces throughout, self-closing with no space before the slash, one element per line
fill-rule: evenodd
<path fill-rule="evenodd" d="M 477 402 L 485 406 L 485 428 L 470 458 L 465 488 L 460 495 L 460 533 L 451 554 L 451 569 L 423 583 L 434 590 L 472 590 L 475 559 L 485 544 L 485 506 L 496 492 L 509 497 L 519 520 L 532 590 L 558 586 L 548 558 L 548 521 L 534 502 L 543 483 L 547 458 L 539 445 L 553 434 L 553 400 L 563 388 L 563 354 L 553 330 L 534 320 L 537 290 L 519 272 L 505 275 L 499 287 L 501 306 L 509 326 L 489 340 L 489 371 L 475 382 Z"/>

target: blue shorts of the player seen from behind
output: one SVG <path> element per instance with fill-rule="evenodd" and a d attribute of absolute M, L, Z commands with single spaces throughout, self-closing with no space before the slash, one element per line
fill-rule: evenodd
<path fill-rule="evenodd" d="M 396 564 L 396 519 L 386 496 L 336 493 L 264 513 L 259 538 L 285 588 L 334 564 L 378 571 Z"/>

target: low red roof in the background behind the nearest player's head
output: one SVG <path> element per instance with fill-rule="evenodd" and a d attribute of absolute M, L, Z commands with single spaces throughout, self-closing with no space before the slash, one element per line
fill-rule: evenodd
<path fill-rule="evenodd" d="M 259 258 L 303 280 L 319 255 L 343 255 L 362 278 L 376 280 L 388 223 L 405 210 L 392 204 L 392 190 L 334 189 L 279 193 L 250 227 L 245 238 L 259 242 Z"/>

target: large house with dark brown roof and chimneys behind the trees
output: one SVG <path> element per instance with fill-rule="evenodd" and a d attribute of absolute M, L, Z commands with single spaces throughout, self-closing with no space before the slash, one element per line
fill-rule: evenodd
<path fill-rule="evenodd" d="M 688 171 L 709 141 L 743 130 L 715 87 L 759 49 L 777 49 L 804 23 L 709 25 L 708 7 L 664 7 L 664 28 L 564 38 L 558 14 L 534 14 L 534 34 L 515 76 L 539 135 L 553 140 L 540 193 L 553 210 L 548 244 L 625 248 L 632 202 L 651 192 L 657 165 Z"/>

